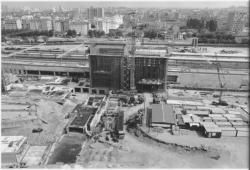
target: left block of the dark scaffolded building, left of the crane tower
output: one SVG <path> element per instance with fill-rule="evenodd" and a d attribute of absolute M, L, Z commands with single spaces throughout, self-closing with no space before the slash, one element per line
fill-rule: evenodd
<path fill-rule="evenodd" d="M 92 93 L 121 89 L 121 65 L 125 43 L 95 43 L 90 47 L 90 85 Z M 96 88 L 96 89 L 95 89 Z"/>

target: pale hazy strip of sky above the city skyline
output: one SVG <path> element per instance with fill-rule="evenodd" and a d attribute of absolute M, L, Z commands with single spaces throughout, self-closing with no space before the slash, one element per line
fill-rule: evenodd
<path fill-rule="evenodd" d="M 89 6 L 94 7 L 158 7 L 158 8 L 227 8 L 230 6 L 248 6 L 248 0 L 235 1 L 2 1 L 2 5 L 9 7 L 23 7 L 29 6 L 32 8 L 52 8 L 61 5 L 65 8 L 85 8 Z"/>

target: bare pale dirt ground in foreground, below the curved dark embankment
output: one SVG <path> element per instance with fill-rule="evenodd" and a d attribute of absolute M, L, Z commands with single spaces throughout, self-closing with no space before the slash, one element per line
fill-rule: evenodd
<path fill-rule="evenodd" d="M 243 142 L 245 145 L 246 143 Z M 212 159 L 206 154 L 189 153 L 184 149 L 169 149 L 150 139 L 126 133 L 121 148 L 102 143 L 86 146 L 76 164 L 84 168 L 247 168 L 247 161 L 239 155 L 223 151 L 223 157 Z M 230 143 L 228 147 L 235 146 Z M 245 145 L 246 146 L 246 145 Z M 247 150 L 245 150 L 246 153 Z M 238 158 L 235 161 L 235 158 Z M 245 154 L 241 157 L 247 158 Z M 230 161 L 229 161 L 230 160 Z"/>

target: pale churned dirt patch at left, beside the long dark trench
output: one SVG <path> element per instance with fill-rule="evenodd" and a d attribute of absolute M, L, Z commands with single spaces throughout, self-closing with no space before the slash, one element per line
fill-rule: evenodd
<path fill-rule="evenodd" d="M 70 113 L 76 104 L 86 101 L 88 94 L 76 94 L 67 99 L 64 105 L 60 105 L 56 101 L 60 99 L 61 96 L 52 98 L 41 94 L 41 91 L 28 92 L 29 86 L 41 86 L 44 85 L 45 82 L 46 81 L 26 81 L 24 83 L 26 89 L 21 91 L 14 89 L 9 94 L 2 94 L 2 109 L 8 109 L 10 106 L 7 105 L 8 103 L 15 103 L 15 105 L 31 104 L 34 110 L 31 114 L 37 117 L 35 120 L 21 123 L 18 127 L 2 129 L 2 135 L 26 136 L 31 145 L 48 145 L 55 142 L 55 140 L 61 136 L 69 120 L 65 119 L 65 115 Z M 20 93 L 22 93 L 22 95 L 20 95 Z M 7 107 L 4 108 L 5 105 Z M 38 127 L 42 128 L 43 131 L 40 133 L 32 133 L 32 129 Z"/>

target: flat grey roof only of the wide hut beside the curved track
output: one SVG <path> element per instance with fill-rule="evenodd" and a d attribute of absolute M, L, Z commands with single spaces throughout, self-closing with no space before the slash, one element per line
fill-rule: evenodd
<path fill-rule="evenodd" d="M 176 124 L 173 106 L 164 103 L 152 104 L 152 122 Z"/>

